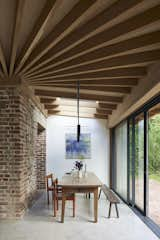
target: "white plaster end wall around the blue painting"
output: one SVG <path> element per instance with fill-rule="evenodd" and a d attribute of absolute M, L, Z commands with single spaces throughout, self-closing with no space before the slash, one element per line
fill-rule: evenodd
<path fill-rule="evenodd" d="M 47 119 L 47 173 L 61 178 L 73 168 L 74 161 L 65 159 L 65 134 L 74 132 L 77 119 L 51 116 Z M 81 118 L 82 132 L 91 133 L 91 159 L 85 160 L 87 171 L 93 171 L 109 184 L 109 130 L 105 120 Z"/>

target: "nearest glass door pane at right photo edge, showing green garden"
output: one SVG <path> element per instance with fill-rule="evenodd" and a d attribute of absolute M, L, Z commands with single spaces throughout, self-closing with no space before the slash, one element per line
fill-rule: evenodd
<path fill-rule="evenodd" d="M 148 111 L 148 217 L 160 226 L 160 103 Z"/>

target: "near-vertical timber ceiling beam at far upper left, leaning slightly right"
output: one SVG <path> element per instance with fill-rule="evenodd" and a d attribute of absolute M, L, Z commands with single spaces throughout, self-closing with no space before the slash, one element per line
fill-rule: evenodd
<path fill-rule="evenodd" d="M 12 50 L 11 50 L 10 65 L 9 65 L 10 77 L 13 74 L 16 56 L 17 56 L 18 40 L 19 40 L 19 33 L 21 28 L 24 5 L 25 5 L 25 0 L 23 1 L 17 0 L 15 23 L 14 23 L 14 30 L 13 30 L 13 37 L 12 37 Z"/>

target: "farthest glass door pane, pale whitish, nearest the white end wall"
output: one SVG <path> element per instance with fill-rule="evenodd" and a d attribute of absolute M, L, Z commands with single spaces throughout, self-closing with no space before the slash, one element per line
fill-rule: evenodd
<path fill-rule="evenodd" d="M 127 122 L 115 129 L 115 190 L 127 200 Z"/>

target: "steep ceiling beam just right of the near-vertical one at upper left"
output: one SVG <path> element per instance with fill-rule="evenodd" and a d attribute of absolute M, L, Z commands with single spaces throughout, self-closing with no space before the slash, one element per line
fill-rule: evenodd
<path fill-rule="evenodd" d="M 30 34 L 30 37 L 27 39 L 20 53 L 20 56 L 18 57 L 15 73 L 17 73 L 22 68 L 22 66 L 30 56 L 32 50 L 40 40 L 43 34 L 43 30 L 45 29 L 45 26 L 48 23 L 48 20 L 52 16 L 53 12 L 57 10 L 57 7 L 59 6 L 60 3 L 61 1 L 56 1 L 56 0 L 46 1 L 46 4 L 42 9 L 42 12 L 39 18 L 37 19 L 35 25 L 33 26 L 33 30 Z"/>

